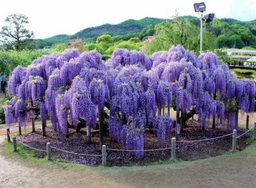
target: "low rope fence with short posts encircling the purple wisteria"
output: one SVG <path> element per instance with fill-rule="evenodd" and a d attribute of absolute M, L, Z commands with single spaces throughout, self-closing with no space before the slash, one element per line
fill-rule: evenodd
<path fill-rule="evenodd" d="M 242 119 L 241 119 L 242 120 Z M 248 121 L 249 122 L 249 121 Z M 76 153 L 76 152 L 71 152 L 71 151 L 66 151 L 66 150 L 62 150 L 62 149 L 59 149 L 59 148 L 56 148 L 56 147 L 53 147 L 53 146 L 50 146 L 50 143 L 47 143 L 47 150 L 41 150 L 41 149 L 37 149 L 37 148 L 33 148 L 27 144 L 24 144 L 22 142 L 20 142 L 19 140 L 16 140 L 16 137 L 11 137 L 10 135 L 10 130 L 9 128 L 7 128 L 7 139 L 8 139 L 8 142 L 12 143 L 13 144 L 13 150 L 16 152 L 17 151 L 17 148 L 16 148 L 16 142 L 17 143 L 20 143 L 28 148 L 31 148 L 33 150 L 36 150 L 36 151 L 41 151 L 41 152 L 47 152 L 47 158 L 48 160 L 51 160 L 51 149 L 54 149 L 54 150 L 58 150 L 58 151 L 61 151 L 61 152 L 65 152 L 65 153 L 71 153 L 71 154 L 75 154 L 75 155 L 82 155 L 82 156 L 102 156 L 102 166 L 103 167 L 106 167 L 106 150 L 110 150 L 110 151 L 125 151 L 125 152 L 139 152 L 139 151 L 143 151 L 143 152 L 147 152 L 147 151 L 161 151 L 161 150 L 169 150 L 171 149 L 172 150 L 172 160 L 175 160 L 175 150 L 176 150 L 176 143 L 193 143 L 193 142 L 204 142 L 204 141 L 207 141 L 207 140 L 213 140 L 213 139 L 219 139 L 219 138 L 223 138 L 223 137 L 226 137 L 226 136 L 231 136 L 232 135 L 232 151 L 236 151 L 236 148 L 237 148 L 237 139 L 240 138 L 241 136 L 247 134 L 249 131 L 251 131 L 252 129 L 254 128 L 254 131 L 253 131 L 253 139 L 255 140 L 256 139 L 256 122 L 254 123 L 254 125 L 249 129 L 247 130 L 246 132 L 244 132 L 243 134 L 237 136 L 237 130 L 234 129 L 233 130 L 233 133 L 230 133 L 230 134 L 226 134 L 226 135 L 223 135 L 223 136 L 218 136 L 218 137 L 214 137 L 214 138 L 207 138 L 207 139 L 199 139 L 199 140 L 177 140 L 176 141 L 176 138 L 173 137 L 172 138 L 172 143 L 171 143 L 171 147 L 168 147 L 168 148 L 159 148 L 159 149 L 147 149 L 147 150 L 124 150 L 124 149 L 113 149 L 113 148 L 106 148 L 105 145 L 102 146 L 102 154 L 84 154 L 84 153 Z M 13 129 L 14 130 L 14 129 Z M 12 130 L 12 131 L 13 131 Z M 12 138 L 12 139 L 11 139 Z"/>

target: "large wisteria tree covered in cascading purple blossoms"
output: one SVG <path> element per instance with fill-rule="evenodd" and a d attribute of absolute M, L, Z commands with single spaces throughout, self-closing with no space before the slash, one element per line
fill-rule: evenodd
<path fill-rule="evenodd" d="M 100 148 L 108 128 L 113 142 L 143 150 L 145 132 L 153 128 L 159 142 L 176 136 L 198 114 L 202 130 L 207 119 L 237 128 L 238 112 L 254 111 L 255 82 L 238 79 L 214 53 L 198 58 L 181 45 L 151 58 L 142 52 L 116 49 L 107 62 L 95 51 L 70 49 L 15 68 L 9 82 L 13 96 L 5 104 L 8 125 L 26 126 L 39 107 L 43 134 L 47 116 L 59 136 L 69 128 L 99 129 Z M 176 117 L 170 117 L 170 109 Z M 180 129 L 180 130 L 179 130 Z M 142 151 L 135 152 L 143 156 Z"/>

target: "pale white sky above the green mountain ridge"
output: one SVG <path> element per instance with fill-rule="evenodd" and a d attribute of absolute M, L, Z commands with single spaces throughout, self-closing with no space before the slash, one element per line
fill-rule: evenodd
<path fill-rule="evenodd" d="M 202 0 L 203 1 L 203 0 Z M 166 18 L 175 15 L 198 16 L 194 3 L 201 0 L 1 0 L 0 27 L 14 13 L 29 17 L 27 28 L 35 38 L 57 34 L 74 34 L 82 29 L 103 23 L 119 23 L 143 17 Z M 218 18 L 230 17 L 242 21 L 256 19 L 255 0 L 205 0 L 206 13 Z"/>

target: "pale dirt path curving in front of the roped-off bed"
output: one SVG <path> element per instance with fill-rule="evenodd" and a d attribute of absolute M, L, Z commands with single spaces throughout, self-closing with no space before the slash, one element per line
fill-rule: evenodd
<path fill-rule="evenodd" d="M 256 187 L 255 148 L 173 165 L 102 169 L 23 161 L 0 146 L 0 187 Z"/>

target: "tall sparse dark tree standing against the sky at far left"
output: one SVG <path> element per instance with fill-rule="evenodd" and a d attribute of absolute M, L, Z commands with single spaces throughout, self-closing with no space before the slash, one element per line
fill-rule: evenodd
<path fill-rule="evenodd" d="M 5 19 L 7 26 L 2 27 L 0 34 L 6 41 L 6 44 L 11 43 L 15 50 L 33 49 L 35 47 L 34 33 L 25 28 L 28 23 L 28 17 L 24 14 L 11 14 Z M 28 47 L 28 48 L 27 48 Z"/>

